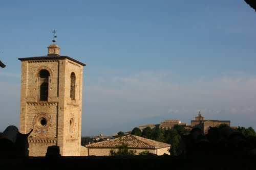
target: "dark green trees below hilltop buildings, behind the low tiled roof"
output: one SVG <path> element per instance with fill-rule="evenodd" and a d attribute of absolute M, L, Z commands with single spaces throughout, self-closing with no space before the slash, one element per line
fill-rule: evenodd
<path fill-rule="evenodd" d="M 226 140 L 229 139 L 223 135 L 223 127 L 226 127 L 226 125 L 220 125 L 219 127 L 210 128 L 211 132 L 209 132 L 207 135 L 204 135 L 202 130 L 200 129 L 200 126 L 196 126 L 194 127 L 194 129 L 199 129 L 200 132 L 195 141 L 206 141 L 207 143 L 211 144 L 215 144 L 213 143 L 214 141 L 228 142 Z M 241 134 L 245 142 L 249 140 L 255 140 L 256 138 L 256 133 L 251 127 L 238 127 L 238 129 L 236 130 L 229 128 L 227 131 L 230 131 L 230 134 Z M 195 132 L 193 133 L 195 134 Z M 186 147 L 194 142 L 190 141 L 189 139 L 192 138 L 192 134 L 190 133 L 190 131 L 186 130 L 183 126 L 180 125 L 175 125 L 173 129 L 161 129 L 158 126 L 153 129 L 147 127 L 143 129 L 143 131 L 136 127 L 132 130 L 131 134 L 152 140 L 157 140 L 160 142 L 169 143 L 172 145 L 170 154 L 176 156 L 185 154 Z M 255 143 L 255 141 L 252 141 L 252 143 Z"/>

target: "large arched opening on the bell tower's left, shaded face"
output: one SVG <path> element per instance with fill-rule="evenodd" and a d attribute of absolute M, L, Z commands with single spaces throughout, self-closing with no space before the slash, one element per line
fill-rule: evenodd
<path fill-rule="evenodd" d="M 39 99 L 40 101 L 48 100 L 48 88 L 49 88 L 49 71 L 46 69 L 42 69 L 39 72 L 38 83 L 39 87 Z"/>

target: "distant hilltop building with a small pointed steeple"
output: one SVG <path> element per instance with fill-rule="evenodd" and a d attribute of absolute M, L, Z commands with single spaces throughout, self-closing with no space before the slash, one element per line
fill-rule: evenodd
<path fill-rule="evenodd" d="M 230 120 L 205 120 L 204 117 L 201 115 L 200 111 L 198 113 L 198 116 L 195 117 L 195 120 L 191 120 L 191 127 L 201 125 L 204 133 L 208 132 L 208 127 L 217 127 L 221 124 L 226 124 L 230 126 Z"/>

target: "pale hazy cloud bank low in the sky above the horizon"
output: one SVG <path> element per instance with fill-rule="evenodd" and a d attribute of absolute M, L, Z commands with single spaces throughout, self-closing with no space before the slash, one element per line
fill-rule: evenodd
<path fill-rule="evenodd" d="M 205 118 L 229 119 L 233 126 L 256 125 L 256 76 L 177 77 L 166 72 L 86 77 L 82 134 L 113 134 L 167 118 L 189 123 L 199 110 Z M 1 131 L 19 126 L 19 83 L 6 81 L 0 82 Z"/>

